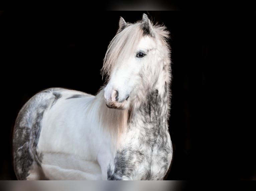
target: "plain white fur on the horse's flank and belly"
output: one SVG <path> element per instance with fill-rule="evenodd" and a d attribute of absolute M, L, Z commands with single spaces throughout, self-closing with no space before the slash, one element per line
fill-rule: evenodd
<path fill-rule="evenodd" d="M 96 176 L 101 169 L 99 163 L 113 160 L 110 134 L 102 131 L 104 127 L 100 123 L 99 103 L 93 104 L 97 97 L 66 99 L 70 90 L 63 90 L 61 94 L 62 97 L 45 110 L 42 120 L 37 149 L 43 153 L 42 169 L 50 179 L 65 180 L 67 176 L 62 174 L 68 173 L 69 179 L 95 180 L 99 178 Z M 107 167 L 100 173 L 102 179 L 107 178 L 105 169 Z"/>

